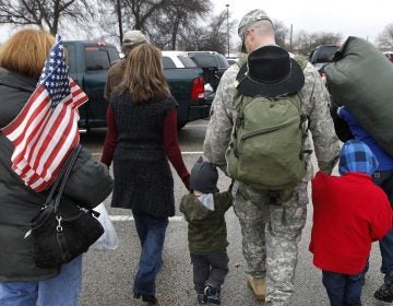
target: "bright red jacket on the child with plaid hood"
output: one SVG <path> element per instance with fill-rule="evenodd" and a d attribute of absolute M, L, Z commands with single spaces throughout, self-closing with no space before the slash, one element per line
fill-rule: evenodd
<path fill-rule="evenodd" d="M 315 267 L 357 274 L 365 268 L 371 243 L 392 228 L 392 209 L 370 175 L 317 173 L 312 180 L 313 225 L 310 251 Z"/>

